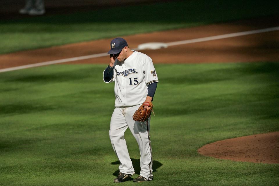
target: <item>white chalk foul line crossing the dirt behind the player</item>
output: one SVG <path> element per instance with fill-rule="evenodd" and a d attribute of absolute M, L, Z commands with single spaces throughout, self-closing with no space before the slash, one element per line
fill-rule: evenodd
<path fill-rule="evenodd" d="M 211 36 L 211 37 L 202 37 L 202 38 L 197 38 L 197 39 L 192 39 L 192 40 L 169 42 L 169 43 L 166 43 L 166 44 L 168 46 L 174 46 L 174 45 L 180 45 L 180 44 L 189 44 L 189 43 L 197 43 L 197 42 L 203 42 L 203 41 L 218 40 L 218 39 L 224 39 L 224 38 L 229 38 L 229 37 L 237 37 L 237 36 L 242 36 L 242 35 L 250 35 L 250 34 L 256 34 L 256 33 L 276 31 L 276 30 L 279 30 L 279 26 L 278 27 L 272 27 L 272 28 L 264 28 L 264 29 L 259 29 L 259 30 L 236 32 L 236 33 L 230 33 L 230 34 L 224 34 L 224 35 L 216 35 L 216 36 Z M 137 51 L 138 49 L 135 48 L 134 50 Z M 103 57 L 103 56 L 108 56 L 108 54 L 107 53 L 99 53 L 99 54 L 93 54 L 93 55 L 88 55 L 88 56 L 80 56 L 80 57 L 74 57 L 74 58 L 67 58 L 67 59 L 60 59 L 60 60 L 34 63 L 34 64 L 30 64 L 30 65 L 10 67 L 10 68 L 5 68 L 5 69 L 0 69 L 0 73 L 1 72 L 7 72 L 7 71 L 13 71 L 13 70 L 19 70 L 19 69 L 26 69 L 26 68 L 31 68 L 31 67 L 39 67 L 39 66 L 44 66 L 44 65 L 52 65 L 52 64 L 57 64 L 57 63 L 65 63 L 65 62 L 83 60 L 83 59 L 98 58 L 98 57 Z"/>

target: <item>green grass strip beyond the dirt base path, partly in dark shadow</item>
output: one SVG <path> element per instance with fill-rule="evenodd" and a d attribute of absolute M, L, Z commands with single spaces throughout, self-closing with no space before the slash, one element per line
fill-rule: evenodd
<path fill-rule="evenodd" d="M 0 53 L 279 13 L 277 1 L 158 2 L 0 21 Z"/>

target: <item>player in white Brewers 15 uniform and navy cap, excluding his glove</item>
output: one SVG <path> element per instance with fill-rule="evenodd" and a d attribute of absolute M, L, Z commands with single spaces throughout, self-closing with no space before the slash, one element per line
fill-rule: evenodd
<path fill-rule="evenodd" d="M 135 174 L 124 132 L 130 129 L 140 148 L 140 176 L 134 182 L 153 180 L 152 150 L 149 138 L 150 117 L 147 121 L 133 120 L 133 114 L 144 102 L 151 102 L 158 77 L 151 58 L 129 49 L 126 40 L 117 37 L 110 42 L 110 64 L 103 71 L 105 83 L 115 81 L 115 109 L 110 121 L 110 141 L 120 161 L 118 177 L 124 182 Z M 148 106 L 144 106 L 148 108 Z M 148 125 L 146 125 L 148 123 Z"/>

